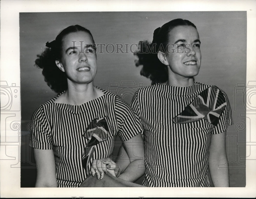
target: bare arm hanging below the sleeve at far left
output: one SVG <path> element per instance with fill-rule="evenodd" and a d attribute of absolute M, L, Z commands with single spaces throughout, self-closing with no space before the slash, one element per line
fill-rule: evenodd
<path fill-rule="evenodd" d="M 34 156 L 38 165 L 35 187 L 57 187 L 53 150 L 34 148 Z"/>

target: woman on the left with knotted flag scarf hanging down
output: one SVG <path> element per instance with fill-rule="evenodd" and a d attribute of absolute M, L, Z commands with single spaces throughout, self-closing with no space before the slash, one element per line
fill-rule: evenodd
<path fill-rule="evenodd" d="M 93 169 L 102 164 L 98 159 L 106 165 L 106 173 L 135 181 L 145 172 L 138 168 L 144 164 L 144 147 L 132 146 L 143 142 L 140 120 L 120 97 L 93 85 L 97 58 L 91 32 L 69 26 L 46 46 L 35 63 L 58 96 L 41 105 L 32 117 L 30 146 L 38 165 L 36 187 L 78 187 L 90 173 L 102 178 L 102 170 Z M 111 157 L 117 134 L 131 164 L 113 172 L 107 165 L 115 167 Z"/>

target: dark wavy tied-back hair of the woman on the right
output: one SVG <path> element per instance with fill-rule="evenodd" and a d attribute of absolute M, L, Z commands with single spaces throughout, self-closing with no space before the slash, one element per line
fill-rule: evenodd
<path fill-rule="evenodd" d="M 157 28 L 153 34 L 152 43 L 148 41 L 140 41 L 138 51 L 135 55 L 135 65 L 142 65 L 141 75 L 149 78 L 151 85 L 163 83 L 168 80 L 167 66 L 164 65 L 157 57 L 159 50 L 166 52 L 166 46 L 169 43 L 169 32 L 177 26 L 192 26 L 196 28 L 194 23 L 184 19 L 173 19 L 165 23 L 161 28 Z"/>

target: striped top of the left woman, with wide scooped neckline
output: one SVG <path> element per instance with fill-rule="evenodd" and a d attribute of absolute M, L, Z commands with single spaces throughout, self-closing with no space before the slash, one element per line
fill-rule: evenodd
<path fill-rule="evenodd" d="M 58 187 L 78 187 L 86 178 L 82 155 L 87 140 L 83 133 L 93 119 L 104 117 L 111 134 L 95 146 L 90 164 L 93 159 L 111 157 L 117 134 L 126 141 L 142 131 L 130 106 L 115 94 L 102 91 L 103 96 L 79 106 L 54 103 L 56 96 L 32 117 L 34 129 L 29 145 L 54 151 Z"/>

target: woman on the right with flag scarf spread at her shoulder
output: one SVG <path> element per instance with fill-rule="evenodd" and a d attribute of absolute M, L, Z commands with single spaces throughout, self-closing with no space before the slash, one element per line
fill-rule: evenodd
<path fill-rule="evenodd" d="M 142 65 L 141 74 L 152 81 L 131 102 L 144 123 L 144 186 L 209 187 L 208 171 L 214 186 L 229 186 L 230 105 L 217 86 L 194 82 L 200 43 L 193 23 L 174 19 L 157 28 L 152 43 L 142 42 L 136 53 L 136 66 Z M 120 154 L 125 154 L 122 148 Z"/>

